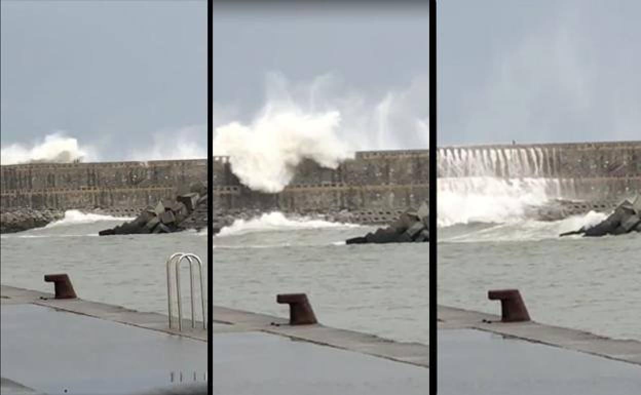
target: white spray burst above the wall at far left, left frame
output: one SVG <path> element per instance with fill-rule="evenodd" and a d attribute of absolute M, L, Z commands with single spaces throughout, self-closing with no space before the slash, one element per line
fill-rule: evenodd
<path fill-rule="evenodd" d="M 31 162 L 72 163 L 73 161 L 95 159 L 92 147 L 81 146 L 78 140 L 62 133 L 45 136 L 42 141 L 35 141 L 31 147 L 13 143 L 2 147 L 0 163 L 17 165 Z"/>

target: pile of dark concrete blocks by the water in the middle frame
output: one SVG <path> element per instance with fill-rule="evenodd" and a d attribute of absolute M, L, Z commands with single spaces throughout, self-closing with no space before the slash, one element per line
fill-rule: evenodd
<path fill-rule="evenodd" d="M 418 210 L 405 211 L 387 228 L 365 236 L 345 240 L 346 244 L 422 243 L 429 241 L 429 206 L 423 202 Z"/>

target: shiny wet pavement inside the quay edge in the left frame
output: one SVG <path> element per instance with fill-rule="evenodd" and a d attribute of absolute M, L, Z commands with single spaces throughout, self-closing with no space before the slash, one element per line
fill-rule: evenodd
<path fill-rule="evenodd" d="M 2 376 L 47 394 L 206 383 L 207 344 L 33 304 L 2 307 Z"/>

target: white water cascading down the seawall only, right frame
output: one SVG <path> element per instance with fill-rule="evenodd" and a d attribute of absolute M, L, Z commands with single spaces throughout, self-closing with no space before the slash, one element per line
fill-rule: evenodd
<path fill-rule="evenodd" d="M 438 150 L 438 223 L 521 220 L 528 206 L 560 197 L 552 152 L 540 147 Z"/>

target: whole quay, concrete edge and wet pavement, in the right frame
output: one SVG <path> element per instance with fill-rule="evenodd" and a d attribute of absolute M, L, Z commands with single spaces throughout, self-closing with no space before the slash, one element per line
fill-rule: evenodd
<path fill-rule="evenodd" d="M 439 394 L 637 394 L 641 342 L 438 308 Z"/>

